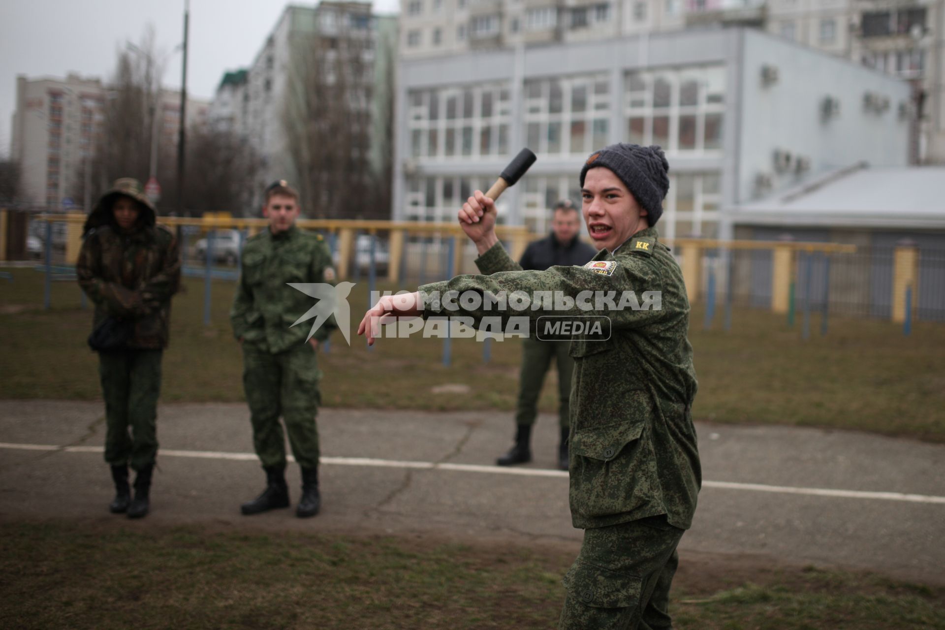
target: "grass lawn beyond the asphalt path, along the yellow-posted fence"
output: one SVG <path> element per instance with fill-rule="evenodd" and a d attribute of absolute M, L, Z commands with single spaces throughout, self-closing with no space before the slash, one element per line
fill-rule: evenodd
<path fill-rule="evenodd" d="M 43 311 L 43 274 L 11 269 L 0 281 L 0 398 L 96 400 L 97 360 L 85 340 L 91 311 L 79 309 L 79 290 L 56 282 L 53 308 Z M 171 347 L 164 356 L 164 402 L 243 400 L 242 359 L 232 340 L 228 311 L 232 281 L 215 281 L 210 326 L 203 325 L 203 281 L 185 281 L 175 298 Z M 384 287 L 390 288 L 390 287 Z M 367 283 L 352 292 L 355 322 L 367 308 Z M 811 339 L 782 316 L 737 310 L 732 330 L 704 331 L 693 311 L 690 339 L 696 353 L 699 392 L 696 419 L 858 429 L 945 442 L 945 325 L 917 322 L 909 337 L 889 322 L 832 317 Z M 383 339 L 368 350 L 360 338 L 347 347 L 335 334 L 320 357 L 322 400 L 332 407 L 425 410 L 497 409 L 515 406 L 519 342 L 491 344 L 489 365 L 474 340 L 453 342 L 453 363 L 441 364 L 438 339 Z M 554 411 L 549 374 L 541 399 Z M 444 384 L 466 384 L 468 393 L 434 393 Z"/>

